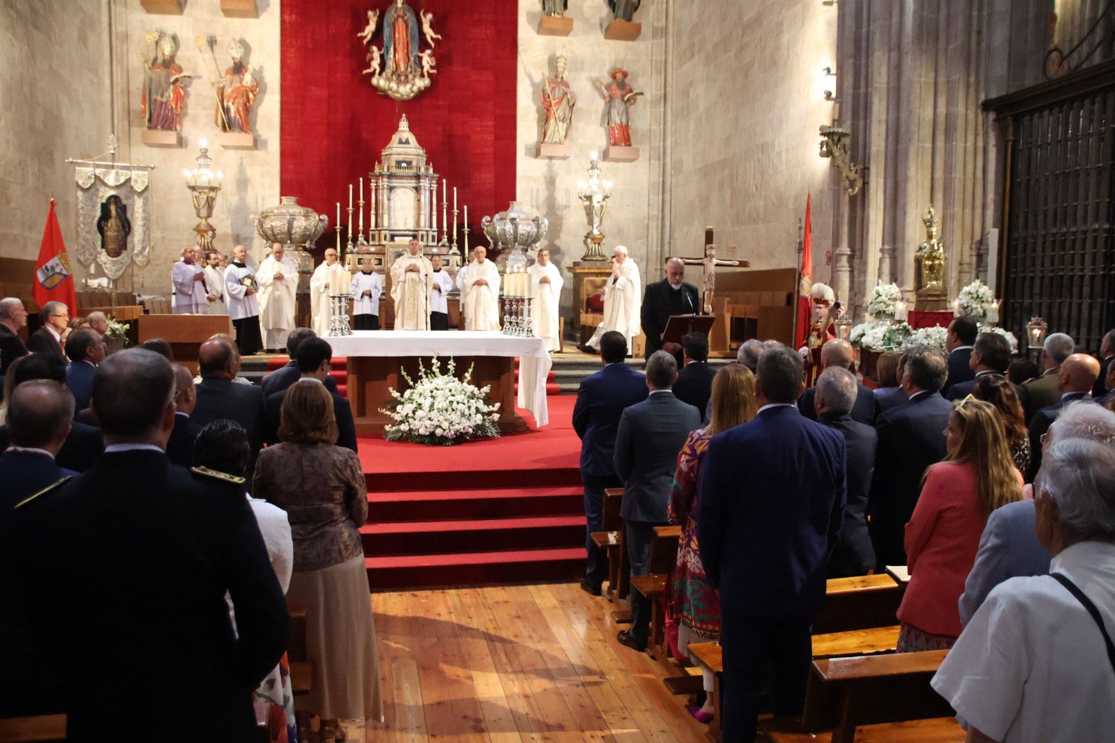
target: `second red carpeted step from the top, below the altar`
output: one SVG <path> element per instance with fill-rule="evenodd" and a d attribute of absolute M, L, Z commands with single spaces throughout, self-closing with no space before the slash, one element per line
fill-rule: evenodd
<path fill-rule="evenodd" d="M 368 493 L 369 524 L 583 514 L 580 486 Z"/>

